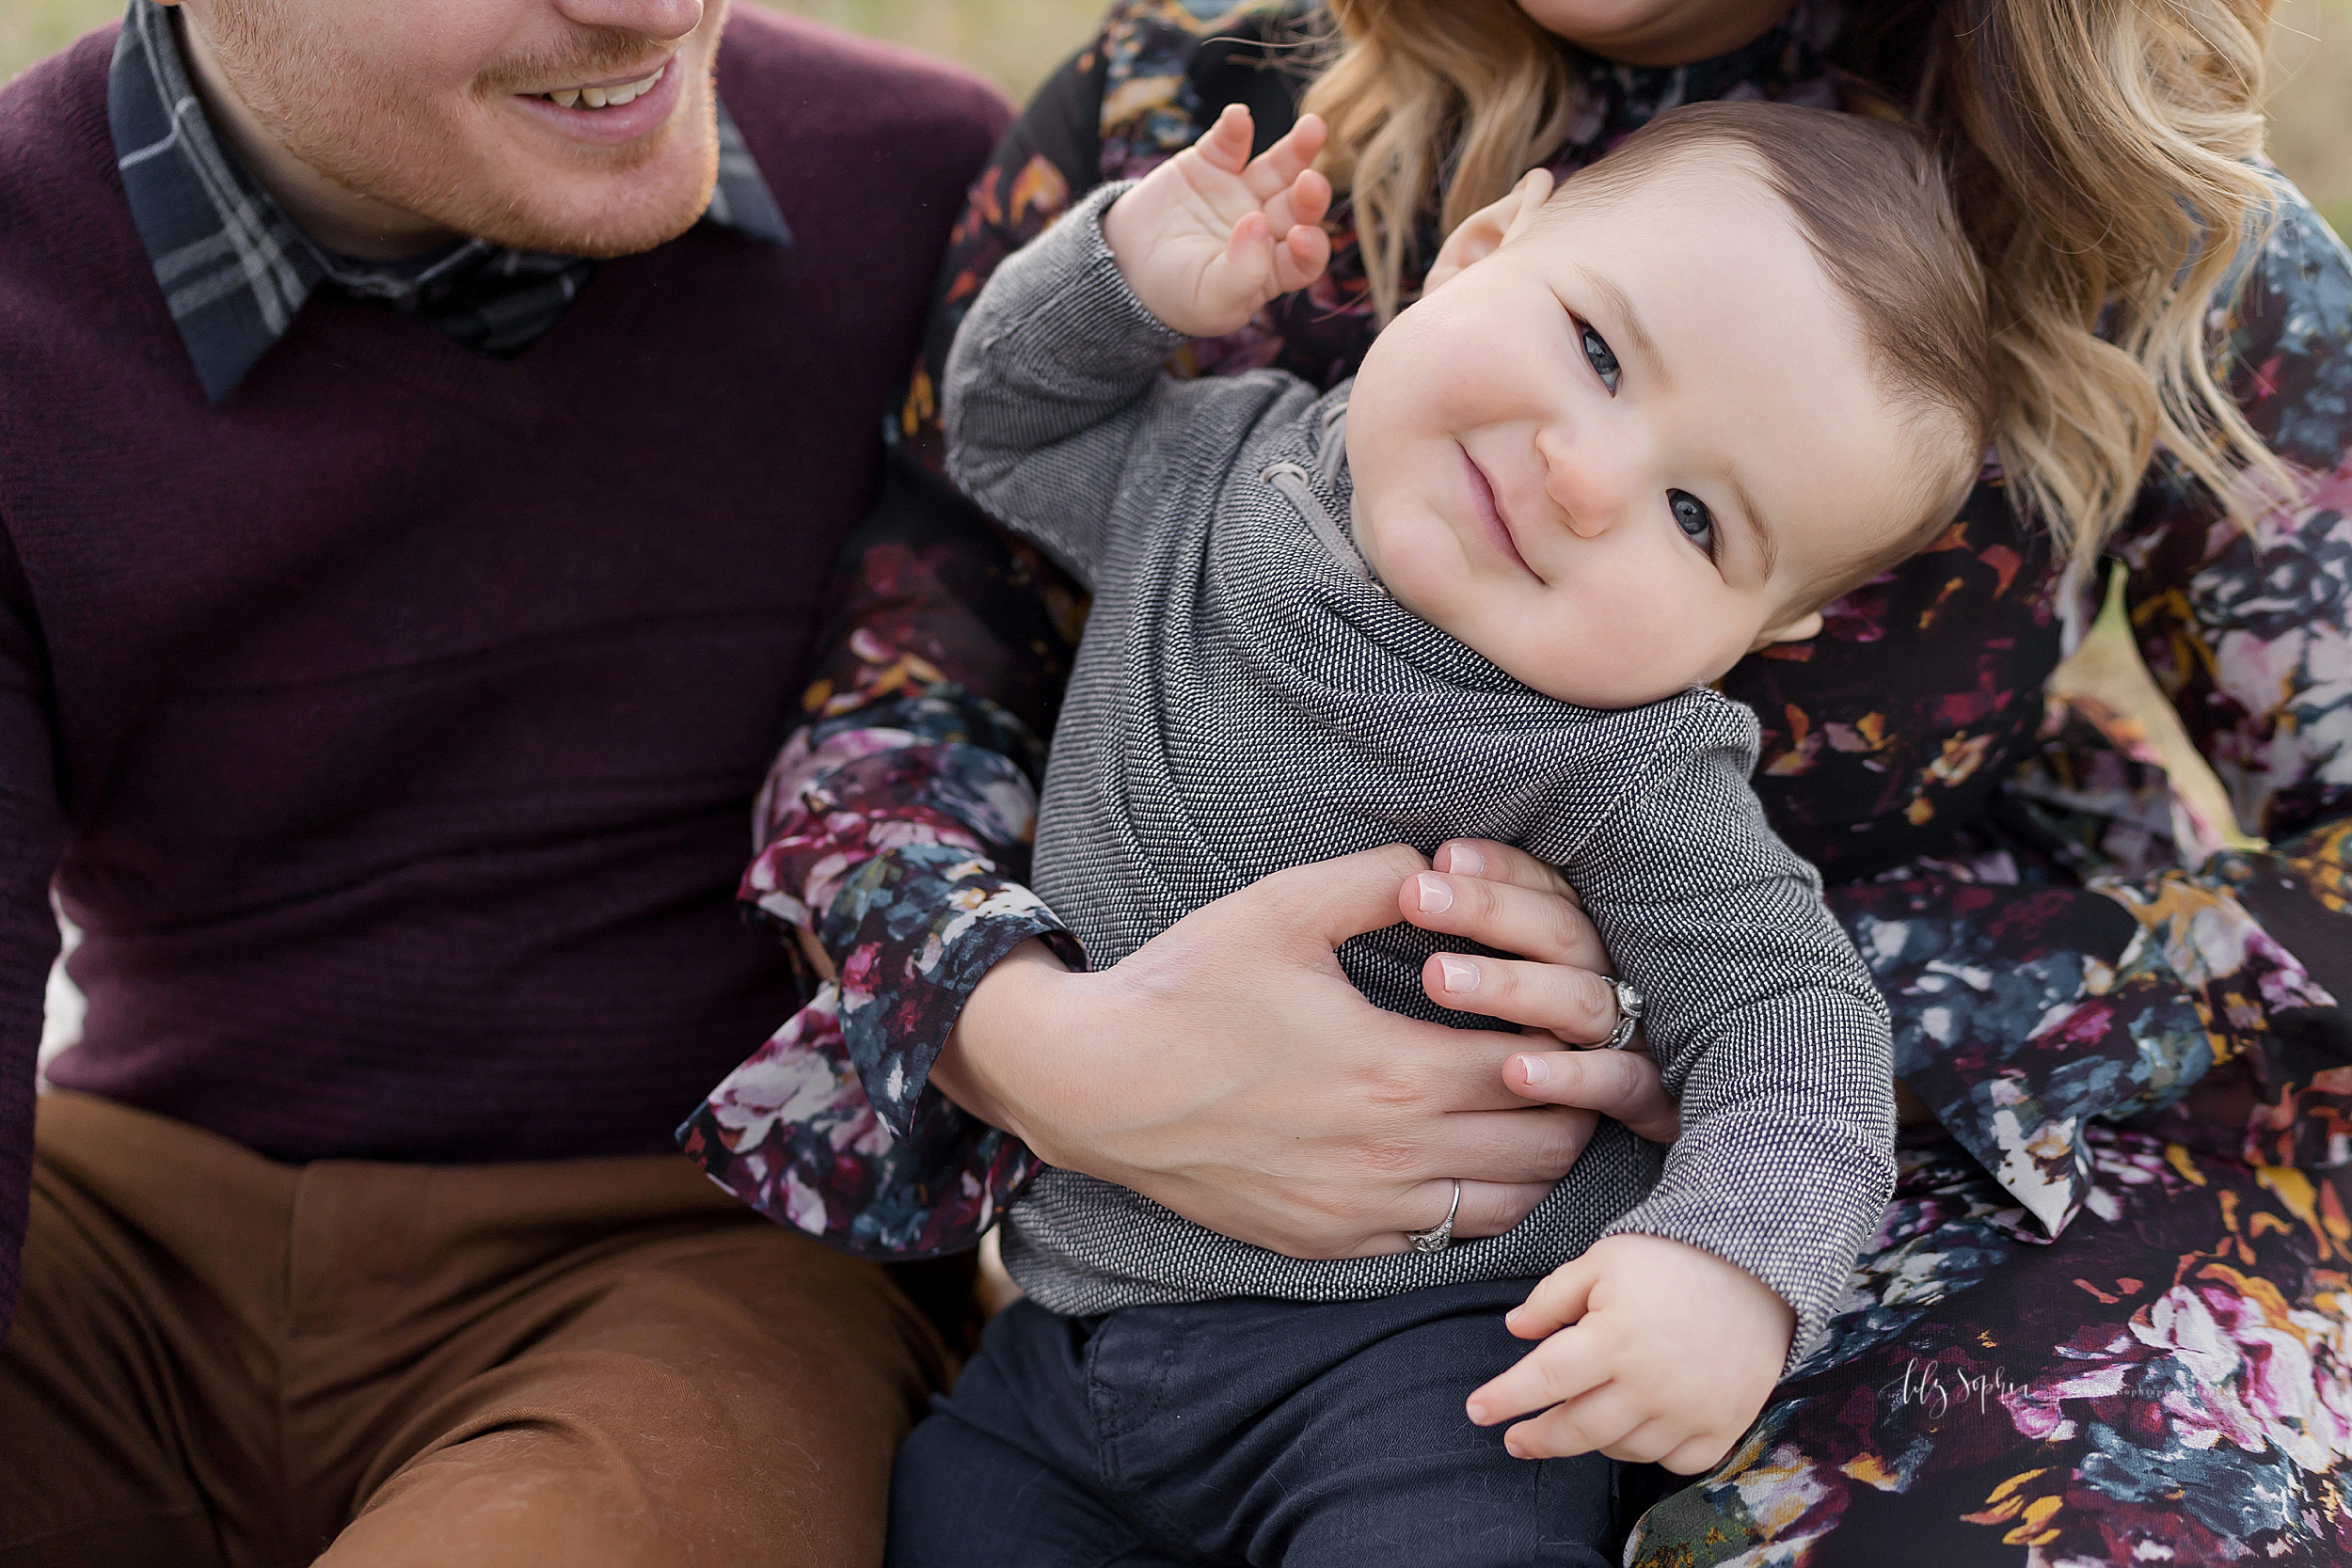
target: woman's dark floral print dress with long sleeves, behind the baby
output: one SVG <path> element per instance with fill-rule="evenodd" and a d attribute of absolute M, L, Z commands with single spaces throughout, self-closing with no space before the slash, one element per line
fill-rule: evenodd
<path fill-rule="evenodd" d="M 840 980 L 713 1093 L 687 1150 L 875 1258 L 971 1246 L 1037 1168 L 924 1079 L 978 978 L 1042 936 L 1023 856 L 1084 604 L 934 477 L 936 378 L 988 273 L 1077 193 L 1228 101 L 1296 113 L 1301 0 L 1122 0 L 971 188 L 849 552 L 809 724 L 760 802 L 743 898 Z M 1799 0 L 1682 68 L 1573 56 L 1552 167 L 1682 101 L 1835 103 L 1839 14 Z M 1374 334 L 1345 207 L 1329 275 L 1178 374 L 1329 386 Z M 1430 247 L 1423 244 L 1423 256 Z M 1896 1016 L 1910 1138 L 1825 1345 L 1628 1561 L 2352 1561 L 2352 256 L 2284 188 L 2216 301 L 2230 376 L 2300 480 L 2249 534 L 2161 463 L 2110 555 L 2131 625 L 2263 851 L 2218 851 L 2145 741 L 2044 698 L 2098 585 L 1999 473 L 1952 529 L 1726 679 L 1757 792 L 1830 879 Z"/>

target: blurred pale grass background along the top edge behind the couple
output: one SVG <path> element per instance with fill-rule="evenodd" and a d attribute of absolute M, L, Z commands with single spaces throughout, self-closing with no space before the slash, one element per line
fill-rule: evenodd
<path fill-rule="evenodd" d="M 1025 99 L 1077 49 L 1103 0 L 762 0 L 786 12 L 960 59 Z M 87 28 L 120 0 L 0 0 L 0 80 Z M 2352 235 L 2352 0 L 2279 0 L 2270 153 Z"/>

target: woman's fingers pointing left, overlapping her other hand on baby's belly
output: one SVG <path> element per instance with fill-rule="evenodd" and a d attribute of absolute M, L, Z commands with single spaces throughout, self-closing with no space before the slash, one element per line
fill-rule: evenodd
<path fill-rule="evenodd" d="M 1604 978 L 1613 971 L 1599 933 L 1566 879 L 1524 849 L 1454 839 L 1399 898 L 1404 917 L 1423 931 L 1524 954 L 1519 961 L 1437 954 L 1421 971 L 1430 1001 L 1505 1018 L 1562 1046 L 1592 1046 L 1616 1030 L 1616 990 Z M 1505 926 L 1517 940 L 1486 936 Z M 1651 1143 L 1675 1143 L 1682 1133 L 1682 1110 L 1658 1084 L 1639 1032 L 1625 1051 L 1522 1048 L 1505 1063 L 1503 1081 L 1543 1105 L 1606 1112 Z"/>

